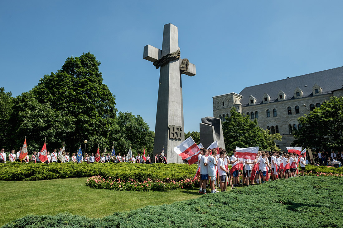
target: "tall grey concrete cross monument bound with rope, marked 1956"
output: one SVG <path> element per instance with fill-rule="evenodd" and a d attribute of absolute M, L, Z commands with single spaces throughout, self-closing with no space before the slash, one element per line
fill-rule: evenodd
<path fill-rule="evenodd" d="M 182 163 L 174 152 L 174 147 L 185 140 L 181 74 L 194 76 L 196 67 L 187 59 L 180 59 L 177 27 L 172 24 L 164 25 L 162 50 L 147 45 L 143 59 L 153 62 L 157 69 L 161 67 L 153 157 L 164 147 L 168 163 Z"/>

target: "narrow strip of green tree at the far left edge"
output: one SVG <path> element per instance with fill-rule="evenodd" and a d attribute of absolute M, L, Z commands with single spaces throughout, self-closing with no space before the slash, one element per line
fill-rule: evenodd
<path fill-rule="evenodd" d="M 6 151 L 12 150 L 10 144 L 10 116 L 12 114 L 12 108 L 14 105 L 14 98 L 11 92 L 5 92 L 3 87 L 0 88 L 0 142 L 1 147 L 4 147 Z"/>

